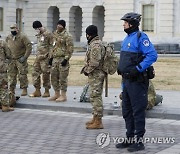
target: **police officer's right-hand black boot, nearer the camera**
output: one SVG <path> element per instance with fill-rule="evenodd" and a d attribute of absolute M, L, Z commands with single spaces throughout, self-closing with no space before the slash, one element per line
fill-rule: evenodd
<path fill-rule="evenodd" d="M 128 151 L 129 152 L 135 152 L 135 151 L 140 151 L 140 150 L 144 150 L 144 144 L 143 144 L 143 138 L 137 138 L 137 140 L 135 141 L 134 144 L 132 144 L 131 146 L 128 147 Z"/>

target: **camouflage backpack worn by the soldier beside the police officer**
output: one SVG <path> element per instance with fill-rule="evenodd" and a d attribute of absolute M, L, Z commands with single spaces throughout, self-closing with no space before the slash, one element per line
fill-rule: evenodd
<path fill-rule="evenodd" d="M 118 57 L 115 55 L 114 46 L 110 43 L 103 43 L 105 54 L 102 70 L 107 74 L 113 75 L 117 71 Z"/>

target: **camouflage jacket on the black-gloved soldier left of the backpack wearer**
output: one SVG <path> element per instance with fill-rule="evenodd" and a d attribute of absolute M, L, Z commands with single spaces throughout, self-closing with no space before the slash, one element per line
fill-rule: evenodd
<path fill-rule="evenodd" d="M 64 29 L 61 33 L 55 31 L 53 35 L 53 49 L 51 51 L 52 58 L 64 57 L 69 60 L 73 53 L 72 36 Z"/>

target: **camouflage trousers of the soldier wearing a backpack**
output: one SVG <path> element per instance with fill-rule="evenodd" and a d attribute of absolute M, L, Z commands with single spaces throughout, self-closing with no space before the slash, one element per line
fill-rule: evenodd
<path fill-rule="evenodd" d="M 94 70 L 88 76 L 88 82 L 90 86 L 90 102 L 92 104 L 92 114 L 103 116 L 103 83 L 105 73 L 101 70 Z"/>

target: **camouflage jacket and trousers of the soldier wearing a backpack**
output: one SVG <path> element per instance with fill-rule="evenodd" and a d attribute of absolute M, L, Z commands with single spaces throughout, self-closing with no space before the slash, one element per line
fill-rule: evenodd
<path fill-rule="evenodd" d="M 102 92 L 105 73 L 102 71 L 104 46 L 99 37 L 94 37 L 88 44 L 88 50 L 85 57 L 85 66 L 83 71 L 88 74 L 90 86 L 90 102 L 92 104 L 92 113 L 98 117 L 103 116 Z"/>

